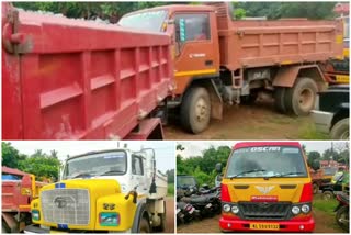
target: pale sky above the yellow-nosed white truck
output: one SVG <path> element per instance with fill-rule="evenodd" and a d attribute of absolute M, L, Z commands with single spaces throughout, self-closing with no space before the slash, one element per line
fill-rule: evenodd
<path fill-rule="evenodd" d="M 11 145 L 20 153 L 32 155 L 36 149 L 42 149 L 49 154 L 53 149 L 58 152 L 58 158 L 65 160 L 67 155 L 75 156 L 92 150 L 122 148 L 124 144 L 132 150 L 139 150 L 143 147 L 152 147 L 156 155 L 156 168 L 161 172 L 176 168 L 176 142 L 167 141 L 18 141 L 11 142 Z"/>

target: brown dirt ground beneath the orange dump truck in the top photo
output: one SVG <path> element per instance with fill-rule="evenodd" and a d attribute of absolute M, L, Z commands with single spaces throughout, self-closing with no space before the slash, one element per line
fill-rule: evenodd
<path fill-rule="evenodd" d="M 166 139 L 319 139 L 312 116 L 295 118 L 275 111 L 273 100 L 259 99 L 251 105 L 226 107 L 223 120 L 212 120 L 197 135 L 185 133 L 178 118 L 165 126 Z"/>

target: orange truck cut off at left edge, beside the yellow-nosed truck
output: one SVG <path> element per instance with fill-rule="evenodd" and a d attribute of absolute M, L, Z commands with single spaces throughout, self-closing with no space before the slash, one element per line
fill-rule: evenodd
<path fill-rule="evenodd" d="M 45 183 L 36 182 L 34 175 L 9 167 L 2 167 L 1 172 L 1 232 L 23 232 L 31 224 L 30 203 Z"/>

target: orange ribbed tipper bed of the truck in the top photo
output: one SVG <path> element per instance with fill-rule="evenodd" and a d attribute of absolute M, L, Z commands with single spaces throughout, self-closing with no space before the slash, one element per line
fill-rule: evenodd
<path fill-rule="evenodd" d="M 216 8 L 220 65 L 239 68 L 324 61 L 342 56 L 340 20 L 231 20 L 225 3 Z"/>

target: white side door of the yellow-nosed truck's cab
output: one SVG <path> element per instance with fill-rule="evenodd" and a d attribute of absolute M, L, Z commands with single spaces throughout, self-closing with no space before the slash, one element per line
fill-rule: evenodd
<path fill-rule="evenodd" d="M 147 177 L 144 165 L 145 163 L 141 156 L 132 156 L 132 179 L 133 186 L 138 186 L 136 190 L 138 195 L 146 195 L 148 193 Z"/>

